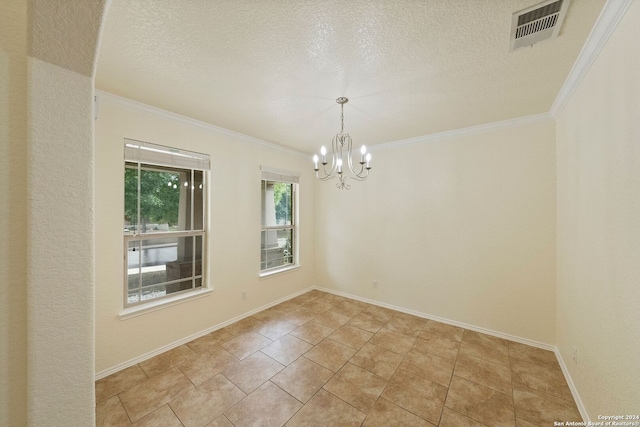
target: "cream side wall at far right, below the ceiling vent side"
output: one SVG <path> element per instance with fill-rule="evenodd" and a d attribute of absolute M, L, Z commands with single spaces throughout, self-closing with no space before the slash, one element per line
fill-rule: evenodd
<path fill-rule="evenodd" d="M 557 345 L 594 421 L 640 409 L 638 22 L 636 1 L 557 116 Z"/>

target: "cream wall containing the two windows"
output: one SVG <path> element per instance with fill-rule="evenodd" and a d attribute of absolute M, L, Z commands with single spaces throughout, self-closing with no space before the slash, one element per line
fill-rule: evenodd
<path fill-rule="evenodd" d="M 209 261 L 215 291 L 122 320 L 124 138 L 211 155 Z M 96 372 L 153 352 L 317 284 L 308 156 L 109 95 L 96 121 Z M 300 172 L 301 268 L 260 279 L 260 165 Z M 240 298 L 247 291 L 247 300 Z"/>

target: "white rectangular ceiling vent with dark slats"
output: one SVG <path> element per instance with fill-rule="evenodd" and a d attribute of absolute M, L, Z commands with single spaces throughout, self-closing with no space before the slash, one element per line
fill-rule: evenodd
<path fill-rule="evenodd" d="M 554 39 L 560 32 L 570 0 L 547 0 L 513 14 L 509 51 Z"/>

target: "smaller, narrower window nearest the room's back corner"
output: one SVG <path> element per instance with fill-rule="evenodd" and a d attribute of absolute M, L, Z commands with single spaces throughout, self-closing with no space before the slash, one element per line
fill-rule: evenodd
<path fill-rule="evenodd" d="M 298 175 L 262 167 L 260 272 L 268 274 L 298 264 Z"/>

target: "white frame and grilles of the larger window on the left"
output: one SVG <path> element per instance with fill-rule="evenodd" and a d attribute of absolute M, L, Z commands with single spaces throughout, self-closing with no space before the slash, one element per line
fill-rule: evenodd
<path fill-rule="evenodd" d="M 123 271 L 123 308 L 125 312 L 134 310 L 144 310 L 148 307 L 157 307 L 158 305 L 170 303 L 176 300 L 181 300 L 184 298 L 191 297 L 192 295 L 202 294 L 203 291 L 209 290 L 209 280 L 208 280 L 208 269 L 207 269 L 207 252 L 208 252 L 208 215 L 209 215 L 209 207 L 208 207 L 208 184 L 209 184 L 209 176 L 210 176 L 210 157 L 207 154 L 196 153 L 192 151 L 187 151 L 183 149 L 177 149 L 157 144 L 151 144 L 148 142 L 137 141 L 132 139 L 125 138 L 125 156 L 124 156 L 124 172 L 126 173 L 127 168 L 134 168 L 138 172 L 137 176 L 137 208 L 136 208 L 136 219 L 135 219 L 135 230 L 134 231 L 125 231 L 123 228 L 123 250 L 124 250 L 124 271 Z M 142 198 L 141 194 L 141 175 L 143 170 L 149 171 L 166 171 L 171 173 L 173 170 L 175 173 L 182 174 L 184 172 L 189 172 L 189 175 L 186 177 L 187 182 L 191 182 L 191 188 L 189 191 L 189 199 L 188 199 L 188 209 L 189 216 L 185 220 L 188 220 L 189 228 L 183 230 L 175 230 L 175 231 L 152 231 L 152 232 L 143 232 L 140 227 L 142 224 L 142 212 L 140 207 L 140 199 Z M 195 204 L 196 204 L 196 189 L 194 183 L 196 182 L 196 175 L 200 175 L 202 177 L 201 183 L 201 203 L 202 203 L 202 227 L 197 228 L 196 218 L 199 216 L 199 213 L 195 212 Z M 199 185 L 200 187 L 200 185 Z M 123 187 L 124 188 L 124 187 Z M 174 187 L 175 188 L 175 187 Z M 124 197 L 123 197 L 124 200 Z M 125 212 L 123 206 L 123 212 Z M 199 218 L 198 218 L 199 219 Z M 200 238 L 200 242 L 198 244 L 198 238 Z M 141 257 L 142 257 L 142 249 L 144 248 L 143 242 L 149 241 L 162 241 L 163 239 L 176 239 L 179 241 L 180 239 L 185 239 L 185 241 L 191 240 L 191 248 L 188 252 L 191 253 L 190 261 L 180 261 L 180 257 L 178 256 L 175 260 L 177 264 L 177 268 L 179 270 L 179 277 L 174 280 L 165 280 L 159 283 L 154 283 L 151 285 L 147 285 L 147 288 L 152 287 L 161 287 L 164 286 L 164 291 L 166 292 L 167 286 L 184 284 L 191 281 L 191 287 L 186 289 L 178 289 L 177 291 L 165 293 L 162 296 L 154 296 L 151 298 L 142 297 L 142 292 L 144 290 L 144 286 L 142 284 L 143 276 L 142 270 L 144 266 L 142 265 Z M 130 288 L 129 288 L 129 249 L 131 242 L 139 242 L 139 254 L 140 261 L 138 262 L 138 300 L 130 302 Z M 179 247 L 178 243 L 178 247 Z M 199 246 L 199 247 L 198 247 Z M 135 250 L 135 249 L 134 249 Z M 183 249 L 184 250 L 184 249 Z M 198 250 L 200 251 L 200 256 L 198 257 Z M 174 262 L 174 261 L 167 261 Z M 188 265 L 191 262 L 190 268 L 187 267 L 187 271 L 189 271 L 188 276 L 182 276 L 182 268 L 183 264 Z M 167 264 L 165 264 L 165 269 L 167 268 Z M 198 265 L 199 264 L 199 265 Z M 179 286 L 181 287 L 181 286 Z"/>

